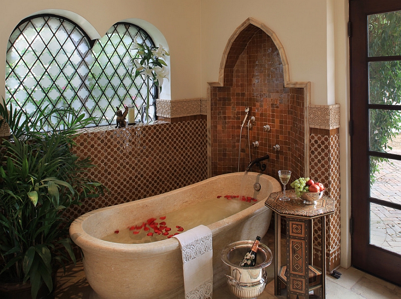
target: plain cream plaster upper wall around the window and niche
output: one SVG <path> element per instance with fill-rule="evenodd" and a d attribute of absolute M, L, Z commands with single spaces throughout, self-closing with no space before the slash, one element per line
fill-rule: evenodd
<path fill-rule="evenodd" d="M 144 20 L 156 41 L 170 51 L 170 93 L 162 98 L 205 98 L 207 82 L 219 80 L 223 51 L 235 29 L 252 17 L 265 24 L 284 47 L 291 81 L 311 82 L 311 103 L 339 103 L 341 160 L 341 264 L 348 266 L 349 78 L 347 0 L 3 0 L 0 84 L 4 86 L 7 41 L 24 18 L 42 10 L 73 12 L 92 35 L 103 36 L 116 22 Z M 155 36 L 153 36 L 153 34 Z M 157 43 L 157 42 L 156 42 Z M 4 96 L 4 88 L 0 95 Z"/>

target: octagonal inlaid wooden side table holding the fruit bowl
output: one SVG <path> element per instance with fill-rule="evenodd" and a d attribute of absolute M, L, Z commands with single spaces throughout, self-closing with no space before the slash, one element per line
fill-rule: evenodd
<path fill-rule="evenodd" d="M 282 192 L 273 192 L 265 202 L 275 213 L 275 252 L 274 252 L 274 292 L 281 294 L 281 283 L 287 288 L 287 299 L 308 299 L 326 297 L 326 216 L 334 213 L 334 200 L 327 196 L 319 199 L 316 205 L 305 205 L 295 195 L 295 190 L 288 190 L 290 201 L 280 200 Z M 285 217 L 287 237 L 287 264 L 281 265 L 281 217 Z M 312 219 L 321 218 L 322 222 L 322 263 L 317 269 L 313 263 Z"/>

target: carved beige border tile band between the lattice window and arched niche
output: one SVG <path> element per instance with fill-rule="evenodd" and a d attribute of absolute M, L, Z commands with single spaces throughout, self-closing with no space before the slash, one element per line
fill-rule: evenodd
<path fill-rule="evenodd" d="M 174 118 L 191 115 L 206 115 L 205 99 L 156 99 L 157 116 Z"/>

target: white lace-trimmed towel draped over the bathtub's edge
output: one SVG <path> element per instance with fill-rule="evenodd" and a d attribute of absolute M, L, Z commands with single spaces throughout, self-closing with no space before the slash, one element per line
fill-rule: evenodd
<path fill-rule="evenodd" d="M 181 246 L 185 299 L 212 298 L 212 231 L 199 225 L 174 237 Z"/>

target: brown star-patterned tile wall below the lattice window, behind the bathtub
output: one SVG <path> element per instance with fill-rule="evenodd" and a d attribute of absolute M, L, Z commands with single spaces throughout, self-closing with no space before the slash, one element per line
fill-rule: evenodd
<path fill-rule="evenodd" d="M 91 210 L 165 193 L 207 179 L 206 116 L 191 121 L 86 130 L 74 151 L 97 168 L 90 178 L 110 193 L 74 207 L 71 218 Z"/>

